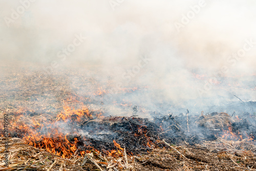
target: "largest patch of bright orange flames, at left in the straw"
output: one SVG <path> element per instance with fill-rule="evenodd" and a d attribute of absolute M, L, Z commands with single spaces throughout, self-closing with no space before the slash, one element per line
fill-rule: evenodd
<path fill-rule="evenodd" d="M 47 117 L 28 117 L 34 111 L 28 109 L 19 109 L 14 113 L 14 117 L 10 120 L 10 131 L 18 133 L 26 144 L 36 148 L 44 149 L 46 152 L 59 155 L 62 158 L 71 158 L 77 151 L 79 135 L 75 132 L 72 134 L 65 133 L 67 130 L 61 129 L 63 123 L 71 126 L 77 125 L 81 121 L 90 120 L 96 117 L 101 117 L 101 111 L 91 111 L 88 106 L 80 103 L 80 109 L 71 108 L 68 104 L 77 103 L 76 98 L 70 98 L 64 102 L 63 112 L 60 112 L 55 119 Z M 68 132 L 68 131 L 67 131 Z M 119 146 L 120 147 L 120 146 Z M 91 147 L 95 152 L 97 149 Z M 121 147 L 119 148 L 121 149 Z M 80 155 L 86 153 L 80 151 Z M 79 154 L 79 153 L 78 153 Z"/>

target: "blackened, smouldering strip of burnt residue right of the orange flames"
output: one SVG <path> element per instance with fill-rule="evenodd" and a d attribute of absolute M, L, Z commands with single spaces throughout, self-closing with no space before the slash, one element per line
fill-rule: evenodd
<path fill-rule="evenodd" d="M 71 119 L 65 124 L 70 127 L 67 138 L 71 143 L 77 143 L 78 151 L 97 149 L 106 154 L 117 149 L 114 142 L 125 147 L 127 153 L 142 154 L 156 146 L 165 146 L 162 140 L 169 144 L 193 145 L 215 140 L 227 131 L 253 140 L 256 135 L 256 117 L 253 114 L 239 117 L 227 113 L 191 116 L 187 111 L 185 115 L 155 117 L 152 121 L 136 116 L 84 117 L 79 122 Z M 22 138 L 20 131 L 14 130 L 11 135 Z"/>

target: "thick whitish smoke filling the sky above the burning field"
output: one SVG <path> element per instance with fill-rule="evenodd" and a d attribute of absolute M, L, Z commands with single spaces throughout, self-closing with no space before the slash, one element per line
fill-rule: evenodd
<path fill-rule="evenodd" d="M 255 1 L 37 0 L 12 19 L 20 2 L 0 2 L 1 66 L 89 70 L 116 90 L 147 87 L 123 98 L 152 110 L 256 100 Z"/>

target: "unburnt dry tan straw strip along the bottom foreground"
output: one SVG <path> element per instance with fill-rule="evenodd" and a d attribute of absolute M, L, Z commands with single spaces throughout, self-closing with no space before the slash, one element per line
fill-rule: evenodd
<path fill-rule="evenodd" d="M 1 138 L 1 159 L 4 141 Z M 84 157 L 74 154 L 66 159 L 11 138 L 9 168 L 1 163 L 0 170 L 256 170 L 256 157 L 251 152 L 256 146 L 248 141 L 217 139 L 196 146 L 172 146 L 154 148 L 146 155 L 129 156 L 125 148 L 119 147 L 115 156 L 92 150 Z M 237 150 L 238 147 L 251 151 Z"/>

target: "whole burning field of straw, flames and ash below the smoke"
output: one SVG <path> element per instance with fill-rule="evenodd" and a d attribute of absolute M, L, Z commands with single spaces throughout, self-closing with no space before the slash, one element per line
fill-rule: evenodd
<path fill-rule="evenodd" d="M 10 114 L 10 168 L 0 170 L 256 169 L 255 138 L 238 132 L 240 124 L 247 123 L 239 117 L 232 118 L 226 113 L 201 117 L 170 115 L 155 118 L 154 122 L 137 117 L 103 117 L 105 111 L 93 108 L 92 104 L 102 105 L 94 97 L 102 98 L 108 92 L 92 78 L 88 79 L 90 83 L 85 79 L 71 89 L 64 76 L 20 77 L 10 76 L 8 81 L 12 83 L 2 86 L 6 94 L 1 94 L 1 116 Z M 29 85 L 31 80 L 33 84 Z M 7 89 L 13 83 L 16 88 Z M 85 96 L 75 93 L 81 84 L 93 84 L 88 86 Z M 120 106 L 133 105 L 121 102 Z M 202 130 L 198 131 L 194 123 Z M 234 126 L 239 129 L 233 130 Z M 200 131 L 202 134 L 198 135 Z M 219 136 L 222 131 L 224 134 Z M 2 160 L 6 139 L 0 140 Z"/>

